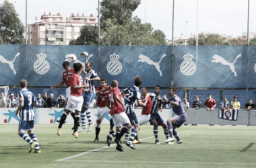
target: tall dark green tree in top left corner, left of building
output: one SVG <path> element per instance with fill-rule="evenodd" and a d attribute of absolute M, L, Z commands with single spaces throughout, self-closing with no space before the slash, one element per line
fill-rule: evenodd
<path fill-rule="evenodd" d="M 0 35 L 6 44 L 22 44 L 25 28 L 18 17 L 14 6 L 9 1 L 3 1 L 0 6 Z"/>

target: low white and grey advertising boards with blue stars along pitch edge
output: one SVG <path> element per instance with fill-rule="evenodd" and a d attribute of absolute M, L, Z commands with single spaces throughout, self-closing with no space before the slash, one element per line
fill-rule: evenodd
<path fill-rule="evenodd" d="M 16 108 L 1 108 L 0 124 L 19 124 L 18 116 L 15 116 Z M 61 118 L 64 110 L 62 108 L 34 108 L 35 124 L 58 124 L 56 121 Z M 141 109 L 135 109 L 137 116 L 141 114 Z M 92 121 L 96 122 L 97 109 L 91 109 Z M 173 116 L 170 109 L 164 109 L 159 113 L 160 116 L 167 120 Z M 188 110 L 187 122 L 184 124 L 216 124 L 216 125 L 245 125 L 256 126 L 255 110 L 238 110 L 237 120 L 224 120 L 219 118 L 219 110 Z M 109 124 L 110 115 L 105 114 L 102 124 Z M 87 121 L 87 119 L 86 119 Z M 73 118 L 67 117 L 67 124 L 73 124 Z M 149 124 L 149 123 L 147 123 Z"/>

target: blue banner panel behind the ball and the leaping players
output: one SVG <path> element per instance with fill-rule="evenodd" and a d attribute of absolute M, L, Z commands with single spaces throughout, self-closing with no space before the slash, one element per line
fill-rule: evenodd
<path fill-rule="evenodd" d="M 80 54 L 88 52 L 88 58 Z M 28 85 L 51 86 L 60 83 L 64 71 L 62 63 L 72 55 L 77 57 L 75 62 L 84 65 L 86 59 L 92 62 L 96 72 L 98 71 L 97 46 L 28 46 Z M 70 62 L 73 67 L 73 62 Z"/>

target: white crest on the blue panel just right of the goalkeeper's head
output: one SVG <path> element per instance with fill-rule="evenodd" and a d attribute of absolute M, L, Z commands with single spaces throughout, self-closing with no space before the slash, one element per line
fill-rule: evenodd
<path fill-rule="evenodd" d="M 181 62 L 181 66 L 180 66 L 181 73 L 187 76 L 193 75 L 197 70 L 197 66 L 195 65 L 195 62 L 192 61 L 193 55 L 185 54 L 183 58 L 184 58 L 184 61 Z"/>

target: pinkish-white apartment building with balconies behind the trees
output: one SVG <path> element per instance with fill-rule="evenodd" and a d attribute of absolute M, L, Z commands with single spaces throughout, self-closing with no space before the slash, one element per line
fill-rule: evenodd
<path fill-rule="evenodd" d="M 61 13 L 52 15 L 51 12 L 37 19 L 34 24 L 28 24 L 28 44 L 35 45 L 68 45 L 71 40 L 80 36 L 82 26 L 90 24 L 97 26 L 94 15 L 84 16 L 71 14 L 63 20 Z"/>

